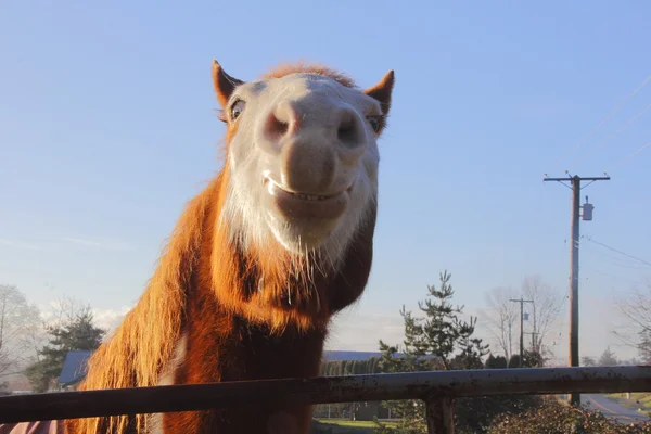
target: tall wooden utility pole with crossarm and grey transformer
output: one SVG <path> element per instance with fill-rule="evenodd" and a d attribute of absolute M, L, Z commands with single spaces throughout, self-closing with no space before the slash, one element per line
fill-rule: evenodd
<path fill-rule="evenodd" d="M 577 175 L 569 176 L 566 178 L 548 178 L 547 175 L 542 181 L 557 181 L 557 182 L 571 182 L 572 189 L 572 243 L 570 246 L 570 357 L 569 366 L 578 366 L 578 238 L 579 238 L 579 217 L 580 217 L 580 182 L 582 181 L 609 181 L 610 177 L 590 177 L 582 178 Z M 604 174 L 605 175 L 605 174 Z M 566 184 L 565 184 L 566 186 Z M 587 186 L 586 186 L 587 187 Z M 592 219 L 593 206 L 587 203 L 588 196 L 586 196 L 586 204 L 584 206 L 584 220 Z M 570 404 L 580 405 L 580 394 L 570 394 Z"/>

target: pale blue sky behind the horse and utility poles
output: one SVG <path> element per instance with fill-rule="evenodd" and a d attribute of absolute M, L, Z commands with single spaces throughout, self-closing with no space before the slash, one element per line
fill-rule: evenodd
<path fill-rule="evenodd" d="M 564 295 L 570 190 L 545 173 L 609 169 L 586 190 L 595 220 L 582 232 L 651 260 L 651 149 L 610 170 L 651 142 L 651 113 L 592 152 L 651 103 L 651 85 L 575 149 L 651 74 L 651 5 L 403 4 L 5 2 L 0 281 L 108 317 L 137 301 L 186 201 L 219 169 L 213 59 L 242 79 L 296 59 L 361 86 L 396 72 L 373 271 L 331 347 L 399 340 L 400 304 L 414 308 L 443 269 L 469 312 L 529 275 Z M 582 354 L 599 355 L 617 348 L 613 298 L 651 267 L 589 242 L 580 265 Z"/>

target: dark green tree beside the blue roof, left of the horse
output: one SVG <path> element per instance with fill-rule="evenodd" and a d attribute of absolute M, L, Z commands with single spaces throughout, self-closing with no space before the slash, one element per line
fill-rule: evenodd
<path fill-rule="evenodd" d="M 62 305 L 63 306 L 63 305 Z M 39 350 L 39 360 L 30 365 L 25 374 L 35 392 L 46 392 L 59 378 L 65 356 L 72 350 L 97 349 L 106 330 L 94 326 L 90 307 L 64 311 L 54 326 L 47 327 L 49 343 Z"/>

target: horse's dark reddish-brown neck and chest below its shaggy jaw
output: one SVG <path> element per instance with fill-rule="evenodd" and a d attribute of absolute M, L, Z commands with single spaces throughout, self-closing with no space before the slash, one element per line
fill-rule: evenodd
<path fill-rule="evenodd" d="M 177 345 L 169 381 L 176 384 L 225 381 L 312 378 L 319 373 L 324 328 L 301 330 L 289 324 L 282 332 L 265 322 L 233 312 L 219 303 L 216 289 L 202 284 L 200 267 L 186 305 L 186 321 Z M 224 434 L 308 431 L 310 407 L 286 411 L 251 408 L 209 412 L 166 413 L 157 419 L 165 433 L 219 432 Z M 272 426 L 277 426 L 272 429 Z"/>

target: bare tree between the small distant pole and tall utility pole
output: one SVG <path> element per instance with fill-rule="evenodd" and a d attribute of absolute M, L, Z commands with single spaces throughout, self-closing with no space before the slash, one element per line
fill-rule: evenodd
<path fill-rule="evenodd" d="M 540 354 L 549 353 L 546 337 L 556 326 L 564 297 L 537 275 L 524 279 L 522 295 L 534 302 L 528 306 L 532 315 L 527 322 L 531 323 L 534 333 L 532 341 L 535 343 L 535 348 Z"/>

